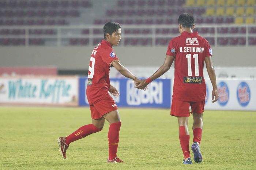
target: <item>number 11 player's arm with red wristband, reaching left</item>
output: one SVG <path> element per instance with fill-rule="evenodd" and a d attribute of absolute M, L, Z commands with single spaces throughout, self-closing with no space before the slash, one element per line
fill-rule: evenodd
<path fill-rule="evenodd" d="M 145 88 L 150 82 L 152 82 L 153 80 L 159 78 L 167 70 L 169 70 L 171 65 L 172 65 L 172 63 L 173 63 L 173 61 L 174 61 L 174 57 L 173 56 L 166 56 L 165 57 L 165 62 L 163 63 L 163 65 L 161 65 L 161 67 L 159 67 L 158 70 L 152 76 L 150 76 L 150 78 L 148 78 L 147 80 L 142 80 L 140 82 L 140 84 L 135 86 L 135 87 L 139 88 L 139 89 Z"/>

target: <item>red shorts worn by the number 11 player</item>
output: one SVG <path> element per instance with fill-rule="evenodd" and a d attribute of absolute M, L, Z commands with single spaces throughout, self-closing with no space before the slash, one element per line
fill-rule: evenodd
<path fill-rule="evenodd" d="M 191 106 L 191 113 L 201 114 L 204 112 L 204 103 L 204 100 L 200 102 L 184 102 L 173 98 L 171 115 L 176 117 L 189 117 L 189 106 Z"/>

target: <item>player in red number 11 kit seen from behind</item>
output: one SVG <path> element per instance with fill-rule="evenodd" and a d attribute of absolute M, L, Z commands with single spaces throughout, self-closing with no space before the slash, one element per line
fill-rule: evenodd
<path fill-rule="evenodd" d="M 142 80 L 139 89 L 146 87 L 151 81 L 165 73 L 173 61 L 174 85 L 171 115 L 178 118 L 179 138 L 184 154 L 184 164 L 191 164 L 189 151 L 188 117 L 189 106 L 193 114 L 193 144 L 192 151 L 196 163 L 202 162 L 200 141 L 203 129 L 204 100 L 206 97 L 206 84 L 203 77 L 204 62 L 212 83 L 212 103 L 218 100 L 217 84 L 211 56 L 212 49 L 206 39 L 200 37 L 195 28 L 194 17 L 181 14 L 178 18 L 180 36 L 173 38 L 167 48 L 163 65 L 146 80 Z"/>

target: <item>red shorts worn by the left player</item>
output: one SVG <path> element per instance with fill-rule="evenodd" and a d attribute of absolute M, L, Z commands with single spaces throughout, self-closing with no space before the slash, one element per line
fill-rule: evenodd
<path fill-rule="evenodd" d="M 104 114 L 117 110 L 118 107 L 113 98 L 109 96 L 108 98 L 101 99 L 97 103 L 90 105 L 90 109 L 91 118 L 99 119 L 103 117 Z"/>

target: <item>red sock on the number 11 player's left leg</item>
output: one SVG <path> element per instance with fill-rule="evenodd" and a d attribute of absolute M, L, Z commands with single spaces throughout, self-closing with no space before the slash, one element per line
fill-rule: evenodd
<path fill-rule="evenodd" d="M 187 159 L 190 157 L 190 151 L 189 151 L 189 135 L 186 134 L 185 126 L 179 126 L 179 138 L 180 138 L 180 146 L 181 146 L 184 158 Z"/>

